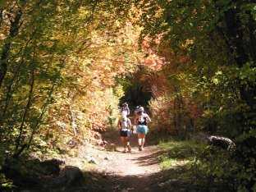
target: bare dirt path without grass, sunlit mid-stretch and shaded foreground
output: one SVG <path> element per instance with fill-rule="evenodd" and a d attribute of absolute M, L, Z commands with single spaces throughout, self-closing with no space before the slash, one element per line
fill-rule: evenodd
<path fill-rule="evenodd" d="M 78 150 L 75 158 L 66 159 L 67 165 L 80 167 L 85 176 L 85 185 L 71 191 L 205 191 L 192 184 L 193 178 L 183 180 L 180 177 L 185 171 L 183 160 L 167 170 L 162 170 L 159 158 L 165 151 L 150 138 L 144 150 L 139 151 L 136 135 L 132 135 L 131 153 L 122 153 L 117 130 L 108 131 L 103 135 L 103 139 L 115 144 L 117 149 L 107 151 L 93 145 L 84 146 Z M 87 162 L 91 159 L 93 162 L 85 163 L 85 159 Z"/>

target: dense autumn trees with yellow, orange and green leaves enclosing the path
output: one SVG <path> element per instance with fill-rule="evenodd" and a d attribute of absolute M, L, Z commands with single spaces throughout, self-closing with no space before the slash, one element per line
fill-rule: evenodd
<path fill-rule="evenodd" d="M 40 189 L 35 160 L 94 144 L 124 102 L 163 143 L 231 140 L 185 143 L 187 170 L 220 187 L 202 191 L 256 191 L 255 100 L 253 0 L 0 0 L 0 191 Z"/>

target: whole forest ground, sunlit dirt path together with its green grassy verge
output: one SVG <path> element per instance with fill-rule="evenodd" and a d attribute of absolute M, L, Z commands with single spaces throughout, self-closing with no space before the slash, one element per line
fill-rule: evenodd
<path fill-rule="evenodd" d="M 200 144 L 192 140 L 171 139 L 160 142 L 161 135 L 148 135 L 143 151 L 138 150 L 136 135 L 130 138 L 131 153 L 122 153 L 123 147 L 117 130 L 108 130 L 102 135 L 113 148 L 106 149 L 100 144 L 84 144 L 63 153 L 65 162 L 61 169 L 70 167 L 67 175 L 61 173 L 48 176 L 40 185 L 31 185 L 25 178 L 21 181 L 19 192 L 157 192 L 188 191 L 217 192 L 223 186 L 213 181 L 204 181 L 190 165 Z M 100 139 L 99 139 L 100 140 Z M 114 150 L 115 149 L 115 150 Z M 53 157 L 48 157 L 51 159 Z M 30 164 L 27 167 L 32 171 Z M 62 172 L 62 171 L 61 171 Z M 24 183 L 25 182 L 25 183 Z M 1 189 L 0 189 L 1 191 Z"/>

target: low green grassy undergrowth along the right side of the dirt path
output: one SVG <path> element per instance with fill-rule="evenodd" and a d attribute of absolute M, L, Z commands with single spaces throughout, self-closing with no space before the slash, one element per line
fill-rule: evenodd
<path fill-rule="evenodd" d="M 239 188 L 235 178 L 240 165 L 231 152 L 194 140 L 172 139 L 160 142 L 159 147 L 164 151 L 159 157 L 162 170 L 180 170 L 173 171 L 176 179 L 207 190 L 236 191 Z"/>

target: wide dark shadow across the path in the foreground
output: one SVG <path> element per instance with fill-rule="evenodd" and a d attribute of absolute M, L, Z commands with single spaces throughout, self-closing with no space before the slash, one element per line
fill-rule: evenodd
<path fill-rule="evenodd" d="M 167 171 L 160 171 L 152 175 L 144 176 L 115 176 L 103 172 L 84 172 L 84 182 L 80 185 L 63 185 L 51 188 L 26 188 L 23 190 L 13 190 L 21 192 L 158 192 L 158 191 L 190 191 L 190 192 L 215 192 L 220 190 L 212 190 L 202 188 L 199 185 L 193 185 L 190 181 L 177 180 L 175 176 L 181 172 L 182 169 L 171 169 Z M 9 190 L 11 191 L 11 190 Z"/>

